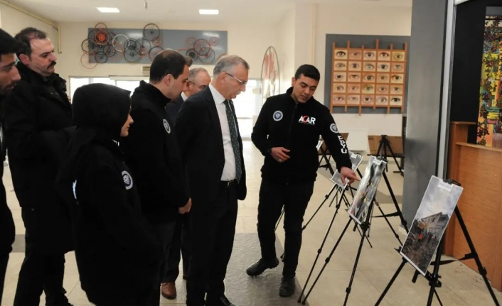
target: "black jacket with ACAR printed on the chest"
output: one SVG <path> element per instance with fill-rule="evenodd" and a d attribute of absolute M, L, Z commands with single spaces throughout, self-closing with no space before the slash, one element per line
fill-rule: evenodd
<path fill-rule="evenodd" d="M 336 161 L 336 168 L 351 168 L 347 145 L 329 109 L 314 97 L 297 104 L 291 97 L 292 90 L 269 97 L 253 128 L 252 142 L 265 156 L 262 177 L 274 182 L 313 182 L 319 166 L 316 149 L 319 135 Z M 269 153 L 273 147 L 291 150 L 289 160 L 284 163 L 274 160 Z"/>

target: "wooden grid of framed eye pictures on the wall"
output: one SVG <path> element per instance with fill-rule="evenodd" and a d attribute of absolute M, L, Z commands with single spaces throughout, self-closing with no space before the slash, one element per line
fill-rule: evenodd
<path fill-rule="evenodd" d="M 404 50 L 336 47 L 331 68 L 331 111 L 335 106 L 405 108 L 407 44 Z"/>

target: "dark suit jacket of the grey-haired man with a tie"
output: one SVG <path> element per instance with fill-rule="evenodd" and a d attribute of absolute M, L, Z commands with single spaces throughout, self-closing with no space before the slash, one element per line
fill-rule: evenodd
<path fill-rule="evenodd" d="M 230 104 L 233 108 L 233 104 Z M 234 111 L 234 120 L 237 122 Z M 188 190 L 194 201 L 191 212 L 202 212 L 213 207 L 201 207 L 198 202 L 212 203 L 225 165 L 223 152 L 223 136 L 220 119 L 210 87 L 191 95 L 181 105 L 176 133 L 180 143 L 183 165 L 188 180 Z M 242 177 L 237 185 L 237 199 L 246 197 L 246 171 L 242 155 L 242 139 L 238 132 L 240 160 L 242 160 Z M 214 204 L 214 203 L 213 203 Z"/>

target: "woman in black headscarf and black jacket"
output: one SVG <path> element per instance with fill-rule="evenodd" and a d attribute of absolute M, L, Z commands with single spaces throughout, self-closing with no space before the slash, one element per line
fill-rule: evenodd
<path fill-rule="evenodd" d="M 158 286 L 161 251 L 144 222 L 120 137 L 129 133 L 129 92 L 89 84 L 73 96 L 78 126 L 58 175 L 73 208 L 75 256 L 82 289 L 97 306 L 146 305 Z"/>

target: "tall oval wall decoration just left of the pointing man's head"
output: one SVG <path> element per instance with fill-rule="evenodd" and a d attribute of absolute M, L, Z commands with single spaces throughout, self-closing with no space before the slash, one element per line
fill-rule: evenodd
<path fill-rule="evenodd" d="M 274 96 L 281 92 L 280 89 L 280 74 L 279 74 L 279 60 L 277 59 L 277 52 L 275 48 L 270 46 L 265 51 L 262 62 L 262 75 L 261 75 L 260 91 L 262 94 L 262 104 L 265 103 L 268 97 Z"/>

